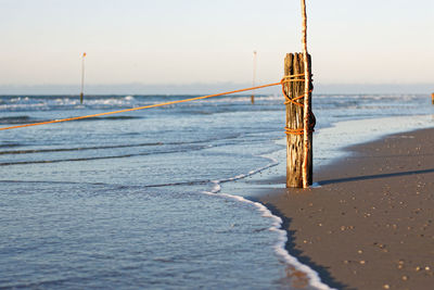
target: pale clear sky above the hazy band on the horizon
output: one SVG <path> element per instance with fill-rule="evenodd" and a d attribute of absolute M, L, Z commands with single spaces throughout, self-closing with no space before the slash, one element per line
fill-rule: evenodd
<path fill-rule="evenodd" d="M 434 84 L 433 0 L 307 0 L 320 84 Z M 299 0 L 0 0 L 0 86 L 279 81 Z"/>

